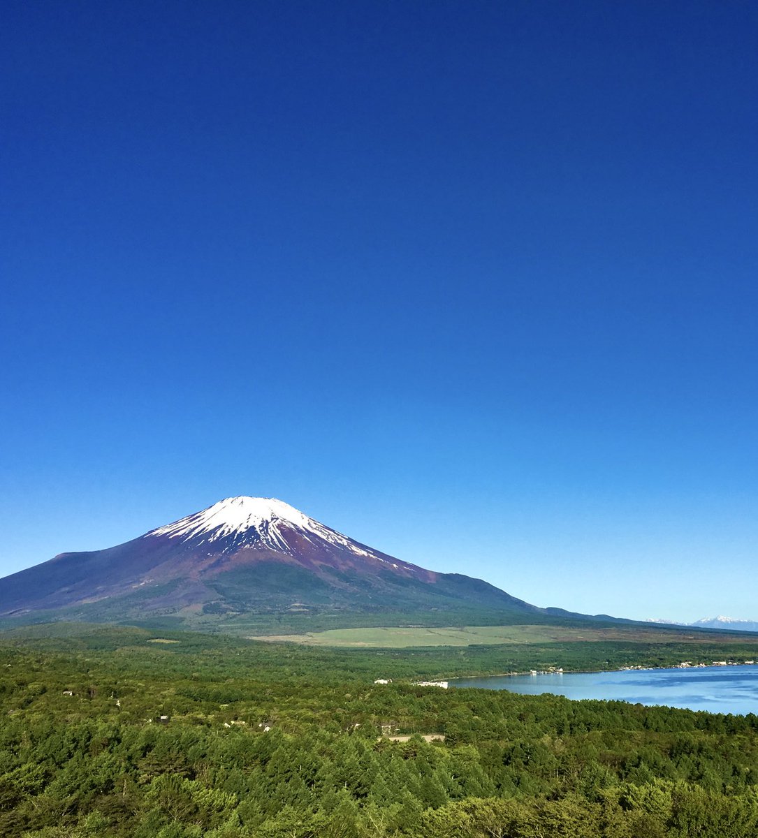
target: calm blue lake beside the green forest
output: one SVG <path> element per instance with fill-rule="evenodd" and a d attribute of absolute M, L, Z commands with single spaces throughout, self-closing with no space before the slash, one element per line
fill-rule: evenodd
<path fill-rule="evenodd" d="M 456 678 L 451 686 L 568 698 L 612 699 L 638 704 L 688 707 L 711 713 L 758 713 L 758 665 L 706 666 L 688 670 L 625 670 L 549 675 Z"/>

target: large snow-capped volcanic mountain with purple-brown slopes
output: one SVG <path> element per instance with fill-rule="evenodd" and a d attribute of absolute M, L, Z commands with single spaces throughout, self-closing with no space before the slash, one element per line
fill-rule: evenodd
<path fill-rule="evenodd" d="M 387 556 L 272 498 L 227 498 L 125 544 L 61 553 L 0 580 L 0 618 L 22 621 L 483 610 L 574 616 Z"/>

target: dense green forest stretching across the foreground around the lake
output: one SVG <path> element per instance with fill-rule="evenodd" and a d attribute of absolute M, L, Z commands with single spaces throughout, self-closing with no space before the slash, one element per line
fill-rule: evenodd
<path fill-rule="evenodd" d="M 750 648 L 729 638 L 703 655 Z M 682 651 L 7 632 L 0 835 L 754 838 L 758 716 L 413 685 L 556 661 L 667 665 Z"/>

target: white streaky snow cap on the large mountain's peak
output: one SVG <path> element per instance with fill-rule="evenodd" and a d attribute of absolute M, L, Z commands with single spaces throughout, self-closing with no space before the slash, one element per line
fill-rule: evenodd
<path fill-rule="evenodd" d="M 296 510 L 276 498 L 250 498 L 241 495 L 226 498 L 209 506 L 208 509 L 187 515 L 173 524 L 151 530 L 144 537 L 168 535 L 180 541 L 200 538 L 201 542 L 213 542 L 231 538 L 235 546 L 259 544 L 271 550 L 290 552 L 287 531 L 297 530 L 299 535 L 313 541 L 313 536 L 328 541 L 333 546 L 343 547 L 356 556 L 367 556 L 385 561 L 372 551 L 363 550 L 355 541 L 336 530 L 319 524 L 319 521 Z M 404 562 L 402 562 L 404 564 Z"/>

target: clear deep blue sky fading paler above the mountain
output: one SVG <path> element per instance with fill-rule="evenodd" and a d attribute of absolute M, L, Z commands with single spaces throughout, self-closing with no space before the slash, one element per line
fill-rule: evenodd
<path fill-rule="evenodd" d="M 0 573 L 235 494 L 758 617 L 758 7 L 3 7 Z"/>

